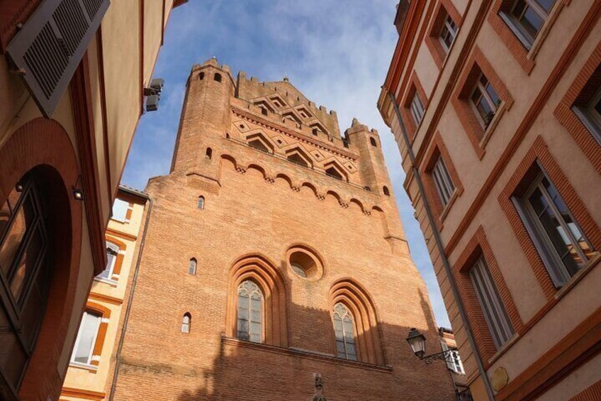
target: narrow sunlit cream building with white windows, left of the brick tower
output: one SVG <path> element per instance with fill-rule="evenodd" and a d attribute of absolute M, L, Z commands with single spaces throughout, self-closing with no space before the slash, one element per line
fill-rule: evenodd
<path fill-rule="evenodd" d="M 137 240 L 145 227 L 148 197 L 119 187 L 106 228 L 106 268 L 94 278 L 77 339 L 69 359 L 60 400 L 108 400 L 120 335 L 139 255 Z"/>

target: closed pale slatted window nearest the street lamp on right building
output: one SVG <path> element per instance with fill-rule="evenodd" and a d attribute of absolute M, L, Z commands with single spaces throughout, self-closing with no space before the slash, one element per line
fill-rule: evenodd
<path fill-rule="evenodd" d="M 482 314 L 488 325 L 490 336 L 493 337 L 495 347 L 500 349 L 511 339 L 515 331 L 509 317 L 507 317 L 505 305 L 499 296 L 484 256 L 480 256 L 476 263 L 472 265 L 469 276 Z"/>

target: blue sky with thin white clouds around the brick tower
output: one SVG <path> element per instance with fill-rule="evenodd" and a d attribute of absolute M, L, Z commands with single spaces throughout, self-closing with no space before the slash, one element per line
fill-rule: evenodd
<path fill-rule="evenodd" d="M 356 117 L 380 134 L 412 258 L 424 278 L 438 326 L 450 327 L 432 263 L 403 189 L 405 173 L 390 128 L 376 102 L 398 40 L 398 0 L 191 0 L 174 9 L 153 77 L 165 81 L 158 111 L 142 116 L 122 183 L 144 189 L 169 173 L 194 64 L 217 57 L 234 77 L 290 79 L 300 92 L 337 111 L 340 132 Z"/>

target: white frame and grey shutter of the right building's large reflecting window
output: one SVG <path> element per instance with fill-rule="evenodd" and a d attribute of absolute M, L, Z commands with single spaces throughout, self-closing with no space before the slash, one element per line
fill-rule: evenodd
<path fill-rule="evenodd" d="M 571 241 L 571 243 L 575 244 L 575 246 L 573 246 L 576 252 L 578 253 L 580 259 L 583 260 L 583 263 L 578 265 L 578 270 L 582 269 L 585 265 L 587 265 L 588 260 L 590 260 L 590 258 L 587 258 L 580 246 L 578 246 L 577 238 L 574 237 L 571 229 L 568 227 L 568 224 L 563 219 L 563 217 L 561 217 L 561 213 L 559 212 L 553 200 L 551 199 L 549 192 L 547 192 L 544 185 L 542 185 L 542 180 L 546 178 L 546 180 L 548 180 L 549 183 L 555 187 L 553 181 L 544 173 L 542 167 L 540 168 L 541 173 L 536 178 L 536 180 L 532 182 L 532 185 L 530 185 L 529 189 L 524 193 L 522 197 L 512 197 L 512 202 L 514 203 L 517 212 L 520 218 L 522 219 L 522 222 L 524 223 L 524 226 L 526 227 L 526 230 L 528 231 L 532 242 L 534 243 L 534 247 L 537 248 L 537 251 L 541 256 L 541 259 L 543 260 L 545 268 L 551 276 L 551 280 L 554 282 L 554 285 L 559 288 L 563 287 L 563 285 L 565 285 L 566 282 L 571 280 L 573 275 L 570 274 L 570 272 L 566 268 L 566 265 L 563 264 L 561 256 L 557 253 L 555 246 L 549 238 L 549 234 L 546 232 L 546 229 L 544 229 L 544 226 L 539 220 L 537 213 L 534 211 L 534 207 L 532 207 L 532 204 L 529 202 L 529 197 L 532 196 L 532 193 L 536 189 L 539 189 L 541 194 L 545 197 L 545 200 L 549 204 L 551 212 L 553 212 L 553 214 L 556 216 L 558 223 L 563 229 L 563 234 L 568 238 L 569 241 Z M 555 188 L 557 191 L 557 187 Z M 559 197 L 561 197 L 561 194 L 559 194 L 558 191 L 557 193 Z M 563 200 L 563 197 L 561 197 L 561 201 L 564 204 L 566 203 Z M 574 222 L 576 228 L 580 231 L 580 234 L 583 236 L 584 241 L 588 243 L 590 249 L 594 249 L 590 241 L 586 237 L 582 227 L 580 227 L 580 224 L 578 224 L 578 221 L 574 218 L 567 204 L 566 208 L 568 209 L 568 215 Z"/>

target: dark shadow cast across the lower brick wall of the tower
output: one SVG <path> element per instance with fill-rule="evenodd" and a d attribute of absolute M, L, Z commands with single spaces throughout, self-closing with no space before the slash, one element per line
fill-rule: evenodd
<path fill-rule="evenodd" d="M 430 330 L 427 351 L 440 351 L 432 311 L 420 292 L 420 310 Z M 349 400 L 454 400 L 453 386 L 444 361 L 431 366 L 417 359 L 405 341 L 412 323 L 395 326 L 380 323 L 376 329 L 381 340 L 384 363 L 371 364 L 335 358 L 335 338 L 330 312 L 291 305 L 288 311 L 291 332 L 289 348 L 222 336 L 212 368 L 197 373 L 203 384 L 196 390 L 184 390 L 178 401 L 189 400 L 313 400 L 314 375 L 320 373 L 328 401 Z M 408 317 L 410 320 L 410 317 Z M 371 328 L 372 330 L 375 328 Z M 367 335 L 367 334 L 366 334 Z M 362 356 L 359 356 L 363 359 Z M 169 375 L 167 375 L 169 377 Z M 157 375 L 156 385 L 165 380 Z M 173 380 L 189 380 L 184 377 Z M 150 393 L 149 393 L 150 394 Z"/>

